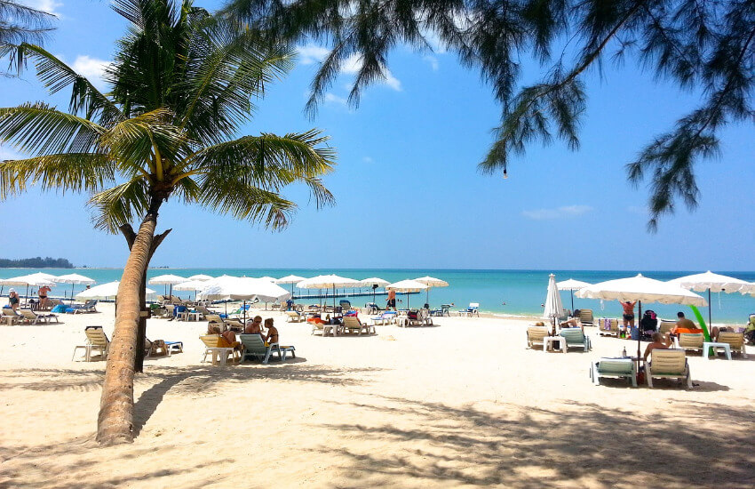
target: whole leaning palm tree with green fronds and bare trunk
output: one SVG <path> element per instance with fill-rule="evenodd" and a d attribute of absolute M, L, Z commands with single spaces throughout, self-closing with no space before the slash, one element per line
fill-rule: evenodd
<path fill-rule="evenodd" d="M 330 203 L 320 177 L 335 157 L 314 130 L 232 139 L 250 120 L 250 98 L 290 68 L 290 52 L 260 48 L 244 26 L 192 0 L 116 0 L 114 9 L 131 27 L 107 68 L 111 92 L 21 44 L 16 61 L 34 61 L 50 92 L 72 87 L 70 111 L 44 102 L 0 108 L 0 142 L 33 155 L 0 163 L 0 198 L 29 184 L 88 192 L 96 226 L 122 229 L 131 247 L 99 408 L 97 438 L 107 445 L 132 440 L 140 303 L 147 265 L 167 234 L 155 236 L 161 205 L 174 196 L 282 228 L 295 208 L 282 188 L 303 183 L 318 206 Z"/>

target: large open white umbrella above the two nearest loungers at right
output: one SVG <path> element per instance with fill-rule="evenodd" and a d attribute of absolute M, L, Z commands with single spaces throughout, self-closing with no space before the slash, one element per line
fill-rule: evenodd
<path fill-rule="evenodd" d="M 702 297 L 676 284 L 669 284 L 653 278 L 637 277 L 618 278 L 584 287 L 576 292 L 583 299 L 603 299 L 605 301 L 639 301 L 640 317 L 642 302 L 660 302 L 661 304 L 683 304 L 686 306 L 707 306 Z M 637 337 L 637 357 L 640 363 L 640 336 Z"/>

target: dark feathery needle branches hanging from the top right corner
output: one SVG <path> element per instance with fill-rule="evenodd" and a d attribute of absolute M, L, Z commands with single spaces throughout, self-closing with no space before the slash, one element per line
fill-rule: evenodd
<path fill-rule="evenodd" d="M 231 0 L 226 12 L 271 41 L 332 49 L 312 82 L 310 111 L 353 55 L 363 62 L 349 96 L 355 106 L 365 86 L 385 77 L 397 45 L 455 52 L 480 70 L 502 106 L 482 172 L 505 170 L 534 140 L 578 148 L 585 74 L 606 60 L 636 60 L 649 77 L 701 94 L 627 164 L 633 184 L 649 180 L 650 229 L 678 198 L 695 207 L 695 164 L 719 154 L 720 129 L 755 120 L 752 0 Z M 522 86 L 526 58 L 545 75 Z"/>

